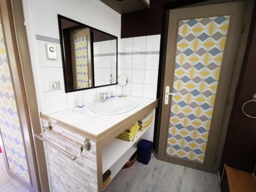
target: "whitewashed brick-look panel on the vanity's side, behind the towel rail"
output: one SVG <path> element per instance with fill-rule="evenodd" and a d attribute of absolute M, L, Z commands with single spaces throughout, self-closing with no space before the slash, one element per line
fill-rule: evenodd
<path fill-rule="evenodd" d="M 52 126 L 53 131 L 81 144 L 84 143 L 84 137 L 65 130 L 60 126 L 54 124 Z M 54 136 L 48 131 L 45 131 L 44 138 L 68 153 L 79 154 L 80 150 L 78 147 Z M 96 143 L 90 142 L 92 145 L 91 150 L 87 151 L 84 149 L 82 156 L 74 161 L 63 155 L 56 148 L 45 144 L 51 191 L 97 191 Z"/>

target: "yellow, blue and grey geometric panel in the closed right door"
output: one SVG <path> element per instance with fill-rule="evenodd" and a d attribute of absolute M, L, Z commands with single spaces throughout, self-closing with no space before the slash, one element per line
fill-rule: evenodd
<path fill-rule="evenodd" d="M 179 20 L 167 156 L 204 162 L 229 18 Z"/>

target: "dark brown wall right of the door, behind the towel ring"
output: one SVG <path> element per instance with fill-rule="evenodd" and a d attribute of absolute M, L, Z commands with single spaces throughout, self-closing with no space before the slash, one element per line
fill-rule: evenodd
<path fill-rule="evenodd" d="M 250 100 L 256 93 L 255 7 L 252 19 L 244 63 L 229 121 L 220 173 L 222 173 L 224 163 L 250 173 L 256 166 L 256 119 L 246 117 L 241 110 L 243 103 Z M 248 103 L 246 110 L 248 114 L 256 116 L 256 103 Z"/>

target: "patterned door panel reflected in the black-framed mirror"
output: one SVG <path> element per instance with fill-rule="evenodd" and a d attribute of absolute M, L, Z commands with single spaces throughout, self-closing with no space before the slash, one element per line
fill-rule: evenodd
<path fill-rule="evenodd" d="M 88 52 L 86 37 L 75 39 L 75 58 L 77 89 L 88 88 Z"/>

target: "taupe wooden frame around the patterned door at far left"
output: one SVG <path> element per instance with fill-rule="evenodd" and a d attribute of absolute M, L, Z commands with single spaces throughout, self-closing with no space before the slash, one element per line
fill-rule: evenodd
<path fill-rule="evenodd" d="M 18 180 L 31 191 L 48 192 L 49 182 L 44 145 L 38 140 L 34 141 L 33 137 L 33 134 L 41 133 L 41 125 L 22 3 L 22 0 L 0 1 L 3 32 L 10 73 L 12 77 L 15 77 L 12 78 L 12 83 L 24 139 L 31 185 L 22 179 L 18 178 Z M 36 153 L 35 148 L 40 153 Z M 15 175 L 8 170 L 8 167 L 7 172 L 12 176 Z"/>

